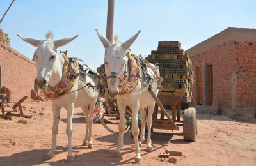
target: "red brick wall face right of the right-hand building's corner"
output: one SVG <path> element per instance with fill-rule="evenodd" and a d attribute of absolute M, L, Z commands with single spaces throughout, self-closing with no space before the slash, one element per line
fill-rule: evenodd
<path fill-rule="evenodd" d="M 236 92 L 236 107 L 256 107 L 256 38 L 230 41 L 230 59 L 232 84 L 236 84 L 232 89 Z"/>

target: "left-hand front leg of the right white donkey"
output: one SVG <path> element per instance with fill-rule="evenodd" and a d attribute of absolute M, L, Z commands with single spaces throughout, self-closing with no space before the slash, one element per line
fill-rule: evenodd
<path fill-rule="evenodd" d="M 119 110 L 119 114 L 120 114 L 120 120 L 119 120 L 119 125 L 118 125 L 119 138 L 118 138 L 117 148 L 113 154 L 113 156 L 115 156 L 115 157 L 121 156 L 120 151 L 121 151 L 121 148 L 124 146 L 125 107 L 126 107 L 126 105 L 118 104 L 118 110 Z"/>

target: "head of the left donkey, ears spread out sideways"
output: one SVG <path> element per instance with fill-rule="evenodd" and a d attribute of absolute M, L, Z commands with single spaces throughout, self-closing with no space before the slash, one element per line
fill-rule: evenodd
<path fill-rule="evenodd" d="M 48 31 L 45 35 L 47 38 L 46 40 L 24 38 L 19 34 L 17 36 L 27 43 L 37 47 L 33 56 L 37 66 L 35 84 L 40 89 L 45 89 L 49 85 L 49 79 L 51 78 L 52 73 L 56 74 L 58 79 L 62 77 L 64 59 L 61 57 L 58 47 L 66 45 L 70 41 L 74 40 L 78 35 L 73 38 L 63 38 L 60 40 L 53 40 L 53 34 L 51 31 Z"/>

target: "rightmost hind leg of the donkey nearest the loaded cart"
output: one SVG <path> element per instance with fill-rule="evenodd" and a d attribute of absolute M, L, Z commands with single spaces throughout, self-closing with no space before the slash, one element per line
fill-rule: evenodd
<path fill-rule="evenodd" d="M 147 151 L 152 151 L 152 142 L 151 142 L 151 126 L 152 126 L 152 114 L 154 111 L 155 102 L 148 106 L 148 117 L 147 117 L 147 126 L 148 126 L 148 138 L 147 138 Z"/>

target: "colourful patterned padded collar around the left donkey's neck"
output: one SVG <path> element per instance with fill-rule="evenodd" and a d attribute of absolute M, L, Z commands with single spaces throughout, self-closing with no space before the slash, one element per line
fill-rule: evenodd
<path fill-rule="evenodd" d="M 65 54 L 62 54 L 62 57 L 65 59 L 65 62 L 63 64 L 63 75 L 59 84 L 55 87 L 48 86 L 47 89 L 44 89 L 43 91 L 44 96 L 52 100 L 67 94 L 72 89 L 77 79 L 77 59 L 67 57 Z"/>

